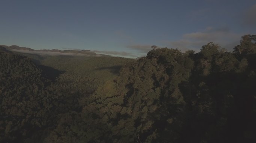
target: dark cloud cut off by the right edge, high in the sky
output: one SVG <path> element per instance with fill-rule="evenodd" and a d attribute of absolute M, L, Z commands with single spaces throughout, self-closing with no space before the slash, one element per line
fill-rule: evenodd
<path fill-rule="evenodd" d="M 251 6 L 245 13 L 244 13 L 244 25 L 256 27 L 256 4 Z"/>

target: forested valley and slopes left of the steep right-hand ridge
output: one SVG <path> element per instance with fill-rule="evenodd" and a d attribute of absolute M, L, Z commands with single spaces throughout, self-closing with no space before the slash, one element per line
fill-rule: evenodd
<path fill-rule="evenodd" d="M 47 142 L 62 118 L 80 116 L 79 98 L 88 97 L 118 76 L 122 65 L 134 61 L 27 55 L 36 59 L 0 49 L 0 142 Z"/>

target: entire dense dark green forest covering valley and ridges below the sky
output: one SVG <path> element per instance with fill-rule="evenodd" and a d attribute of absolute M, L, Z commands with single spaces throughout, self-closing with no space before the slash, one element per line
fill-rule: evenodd
<path fill-rule="evenodd" d="M 256 142 L 256 35 L 138 60 L 0 47 L 0 142 Z"/>

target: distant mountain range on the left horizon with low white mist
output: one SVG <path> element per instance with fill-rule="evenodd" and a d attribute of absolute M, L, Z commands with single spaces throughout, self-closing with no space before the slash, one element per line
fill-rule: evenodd
<path fill-rule="evenodd" d="M 110 55 L 104 55 L 104 54 L 96 54 L 90 50 L 58 50 L 58 49 L 52 49 L 52 50 L 34 50 L 27 47 L 19 47 L 17 45 L 0 45 L 1 51 L 13 51 L 18 53 L 28 53 L 28 54 L 39 54 L 39 55 L 72 55 L 72 56 L 95 56 L 95 57 L 101 57 L 101 56 L 110 56 Z"/>

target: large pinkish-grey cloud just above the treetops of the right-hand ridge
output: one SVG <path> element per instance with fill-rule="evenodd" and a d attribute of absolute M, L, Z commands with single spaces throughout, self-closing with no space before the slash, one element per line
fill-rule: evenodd
<path fill-rule="evenodd" d="M 230 32 L 229 28 L 207 27 L 203 31 L 183 34 L 182 39 L 177 41 L 162 41 L 170 48 L 179 48 L 181 51 L 200 51 L 202 45 L 214 42 L 223 48 L 231 51 L 235 45 L 239 44 L 241 34 Z"/>

